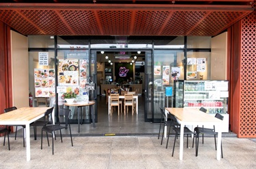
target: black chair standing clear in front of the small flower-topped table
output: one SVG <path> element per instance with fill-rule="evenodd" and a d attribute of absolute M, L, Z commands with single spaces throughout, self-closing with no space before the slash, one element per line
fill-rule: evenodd
<path fill-rule="evenodd" d="M 56 134 L 55 131 L 59 130 L 59 134 L 61 136 L 61 143 L 62 143 L 62 134 L 61 134 L 61 130 L 62 129 L 70 129 L 70 138 L 71 138 L 71 145 L 73 146 L 73 140 L 72 140 L 72 133 L 71 133 L 71 128 L 70 128 L 70 109 L 59 109 L 59 115 L 58 115 L 58 123 L 55 125 L 51 125 L 51 126 L 43 126 L 42 127 L 42 135 L 43 135 L 43 131 L 46 132 L 46 136 L 47 136 L 47 141 L 48 141 L 48 146 L 50 146 L 49 144 L 49 140 L 48 140 L 48 133 L 51 133 L 52 136 L 55 136 L 55 140 L 56 140 Z M 61 126 L 60 125 L 60 119 L 65 119 L 65 126 Z M 41 135 L 41 149 L 42 149 L 42 135 Z M 53 154 L 54 154 L 54 138 L 53 138 Z"/>

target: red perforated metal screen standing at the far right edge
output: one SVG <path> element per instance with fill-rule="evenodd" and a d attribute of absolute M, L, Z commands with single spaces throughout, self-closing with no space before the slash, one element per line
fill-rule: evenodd
<path fill-rule="evenodd" d="M 254 3 L 256 8 L 256 3 Z M 256 12 L 242 20 L 239 137 L 256 137 Z"/>

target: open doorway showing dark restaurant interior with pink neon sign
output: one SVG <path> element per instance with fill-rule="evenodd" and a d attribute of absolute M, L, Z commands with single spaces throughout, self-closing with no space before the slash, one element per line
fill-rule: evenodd
<path fill-rule="evenodd" d="M 143 115 L 143 121 L 152 121 L 152 112 L 150 111 L 152 110 L 150 103 L 152 99 L 149 98 L 152 96 L 149 91 L 152 90 L 149 89 L 150 86 L 148 85 L 152 81 L 152 50 L 104 49 L 91 50 L 90 54 L 91 62 L 96 60 L 96 64 L 91 64 L 91 76 L 97 86 L 94 96 L 91 96 L 98 102 L 95 112 L 96 118 L 101 118 L 98 117 L 100 115 L 98 109 L 102 107 L 100 105 L 102 99 L 106 99 L 106 104 L 108 104 L 107 92 L 128 90 L 138 95 L 138 113 Z M 122 73 L 126 73 L 126 75 Z"/>

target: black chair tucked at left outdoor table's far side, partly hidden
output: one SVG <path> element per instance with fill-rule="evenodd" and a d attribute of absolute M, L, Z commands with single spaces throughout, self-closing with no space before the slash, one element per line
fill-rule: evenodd
<path fill-rule="evenodd" d="M 50 112 L 51 113 L 53 112 L 53 107 L 51 107 L 50 109 L 47 109 L 46 113 L 47 112 Z M 51 116 L 51 114 L 50 114 Z M 34 139 L 36 140 L 37 139 L 37 133 L 36 133 L 36 128 L 39 126 L 39 127 L 43 127 L 45 125 L 45 123 L 47 124 L 52 124 L 53 121 L 52 121 L 52 117 L 48 117 L 48 115 L 44 114 L 44 117 L 38 119 L 37 121 L 33 122 L 33 124 L 30 124 L 30 126 L 33 126 L 33 134 L 34 134 Z"/>

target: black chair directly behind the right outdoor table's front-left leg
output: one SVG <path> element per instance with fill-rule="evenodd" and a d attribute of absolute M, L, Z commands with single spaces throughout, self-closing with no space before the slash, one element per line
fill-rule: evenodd
<path fill-rule="evenodd" d="M 175 132 L 174 143 L 173 143 L 173 153 L 174 153 L 176 139 L 177 139 L 177 136 L 180 135 L 180 124 L 178 123 L 175 115 L 170 114 L 170 118 L 171 118 L 171 121 L 173 121 L 173 124 L 175 124 L 175 125 L 171 125 L 169 127 L 168 138 L 167 138 L 167 147 L 168 147 L 170 132 L 171 132 L 171 130 L 173 130 Z M 195 137 L 195 132 L 192 132 L 191 130 L 189 130 L 189 128 L 184 126 L 184 135 L 185 134 L 186 134 L 186 148 L 188 148 L 188 135 L 190 134 Z M 197 140 L 195 141 L 195 145 L 197 145 Z M 172 157 L 173 157 L 173 153 L 171 155 Z"/>

